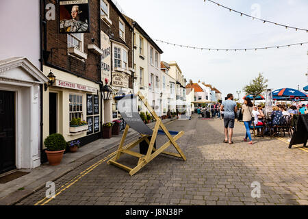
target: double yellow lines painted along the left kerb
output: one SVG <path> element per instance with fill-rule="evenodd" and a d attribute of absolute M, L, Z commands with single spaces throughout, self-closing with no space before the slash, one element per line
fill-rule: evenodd
<path fill-rule="evenodd" d="M 168 125 L 170 123 L 173 123 L 175 120 L 172 120 L 168 123 L 166 123 L 165 125 Z M 127 149 L 127 146 L 124 147 L 123 149 Z M 92 166 L 88 167 L 86 170 L 82 171 L 79 173 L 79 175 L 77 175 L 76 177 L 74 177 L 73 179 L 70 179 L 70 181 L 68 181 L 67 183 L 65 183 L 64 185 L 62 185 L 60 188 L 58 188 L 55 192 L 57 192 L 57 194 L 55 194 L 55 196 L 53 198 L 55 198 L 56 196 L 58 196 L 59 194 L 61 194 L 62 192 L 64 192 L 64 190 L 70 188 L 70 186 L 74 185 L 75 183 L 77 183 L 77 181 L 79 181 L 79 179 L 81 179 L 82 177 L 86 176 L 89 172 L 91 172 L 92 170 L 94 170 L 95 168 L 97 168 L 97 166 L 99 166 L 100 164 L 102 164 L 103 162 L 105 162 L 107 159 L 109 159 L 110 157 L 112 157 L 113 155 L 116 155 L 116 153 L 118 153 L 118 150 L 114 151 L 113 153 L 111 153 L 110 155 L 107 155 L 107 157 L 104 157 L 103 159 L 101 159 L 99 162 L 93 164 Z M 59 191 L 60 190 L 60 191 Z M 59 192 L 58 192 L 59 191 Z M 35 203 L 34 205 L 46 205 L 47 203 L 49 203 L 49 201 L 53 200 L 53 198 L 43 198 L 42 200 L 38 201 L 37 203 Z"/>

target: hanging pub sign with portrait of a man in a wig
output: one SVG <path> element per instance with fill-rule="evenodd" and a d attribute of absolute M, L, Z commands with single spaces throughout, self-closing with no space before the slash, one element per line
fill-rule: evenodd
<path fill-rule="evenodd" d="M 59 1 L 59 31 L 62 34 L 90 32 L 89 0 Z"/>

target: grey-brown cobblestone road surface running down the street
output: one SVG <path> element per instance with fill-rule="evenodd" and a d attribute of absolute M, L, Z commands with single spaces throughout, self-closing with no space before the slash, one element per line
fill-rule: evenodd
<path fill-rule="evenodd" d="M 177 142 L 186 162 L 159 155 L 130 177 L 101 155 L 55 181 L 55 198 L 44 198 L 44 188 L 17 205 L 308 205 L 307 149 L 288 149 L 277 138 L 247 144 L 242 123 L 235 124 L 235 144 L 224 144 L 222 123 L 193 116 L 167 125 L 185 131 Z M 166 141 L 159 136 L 157 146 Z M 136 165 L 125 156 L 121 163 Z M 251 196 L 254 181 L 260 198 Z"/>

